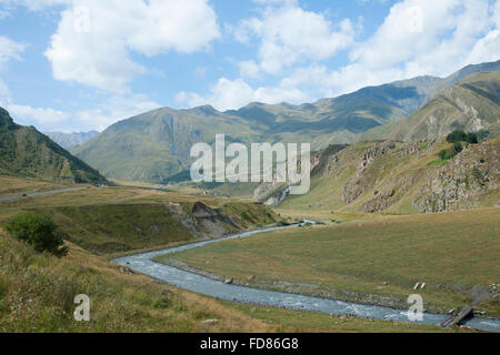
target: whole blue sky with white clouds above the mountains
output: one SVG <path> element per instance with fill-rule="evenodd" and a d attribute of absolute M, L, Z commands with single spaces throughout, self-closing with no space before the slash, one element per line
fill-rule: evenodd
<path fill-rule="evenodd" d="M 500 0 L 0 0 L 0 106 L 40 131 L 304 103 L 500 59 Z"/>

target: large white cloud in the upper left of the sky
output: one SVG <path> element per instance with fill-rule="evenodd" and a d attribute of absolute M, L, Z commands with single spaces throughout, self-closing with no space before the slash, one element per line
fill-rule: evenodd
<path fill-rule="evenodd" d="M 46 55 L 58 80 L 127 92 L 128 83 L 147 72 L 131 51 L 190 53 L 206 50 L 219 36 L 207 0 L 73 0 Z"/>

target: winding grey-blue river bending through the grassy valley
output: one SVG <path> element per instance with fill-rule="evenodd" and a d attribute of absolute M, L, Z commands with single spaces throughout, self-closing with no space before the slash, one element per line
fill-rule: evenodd
<path fill-rule="evenodd" d="M 304 223 L 314 223 L 312 221 L 304 221 Z M 248 237 L 259 233 L 266 233 L 270 231 L 290 229 L 299 226 L 278 226 L 266 230 L 244 232 L 218 240 L 211 240 L 206 242 L 199 242 L 182 246 L 177 246 L 168 250 L 149 252 L 143 254 L 130 255 L 112 261 L 114 264 L 129 266 L 131 270 L 146 274 L 153 278 L 167 282 L 180 288 L 192 291 L 207 296 L 212 296 L 219 300 L 257 304 L 266 306 L 277 306 L 290 310 L 300 311 L 313 311 L 334 315 L 356 315 L 359 317 L 377 318 L 386 321 L 409 322 L 407 312 L 408 310 L 393 310 L 390 307 L 362 305 L 350 302 L 342 302 L 329 298 L 320 298 L 306 295 L 289 294 L 268 290 L 258 290 L 244 286 L 228 285 L 220 281 L 214 281 L 198 274 L 193 274 L 187 271 L 182 271 L 172 266 L 154 263 L 153 257 L 159 255 L 166 255 L 177 253 L 203 245 L 219 243 L 227 240 Z M 421 324 L 439 324 L 447 320 L 448 316 L 443 314 L 423 314 L 423 321 L 414 322 Z M 488 320 L 481 317 L 473 317 L 469 320 L 466 325 L 489 332 L 500 333 L 500 321 Z"/>

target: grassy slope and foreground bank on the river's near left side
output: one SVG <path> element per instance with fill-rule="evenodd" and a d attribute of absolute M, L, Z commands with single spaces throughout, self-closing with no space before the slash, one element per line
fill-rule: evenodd
<path fill-rule="evenodd" d="M 23 183 L 23 180 L 17 179 L 16 184 L 19 191 L 29 192 L 32 181 Z M 182 224 L 188 219 L 176 221 L 174 214 L 166 209 L 171 203 L 192 206 L 196 202 L 214 207 L 226 204 L 222 213 L 241 223 L 238 230 L 259 229 L 279 220 L 253 202 L 120 186 L 87 186 L 81 191 L 1 202 L 0 225 L 21 211 L 52 215 L 69 235 L 66 241 L 69 255 L 58 258 L 37 253 L 0 229 L 0 328 L 6 332 L 442 332 L 434 325 L 231 304 L 179 290 L 109 262 L 127 254 L 221 236 L 207 233 L 209 229 L 203 229 L 207 225 L 202 222 L 197 224 L 203 219 L 199 212 L 190 216 L 193 230 L 188 230 Z M 168 232 L 162 232 L 163 227 Z M 200 232 L 194 232 L 197 229 Z M 120 252 L 116 245 L 120 245 Z M 90 323 L 72 321 L 73 295 L 81 293 L 92 300 Z"/>

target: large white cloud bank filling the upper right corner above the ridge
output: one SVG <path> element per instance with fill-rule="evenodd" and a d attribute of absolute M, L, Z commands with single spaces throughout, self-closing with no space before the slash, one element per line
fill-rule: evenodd
<path fill-rule="evenodd" d="M 500 11 L 499 3 L 496 11 Z M 409 26 L 414 22 L 414 7 L 421 9 L 421 31 Z M 351 50 L 349 64 L 339 70 L 314 63 L 297 68 L 281 85 L 313 83 L 317 94 L 333 97 L 417 75 L 443 77 L 470 63 L 499 60 L 493 11 L 488 0 L 400 1 L 376 33 Z"/>

